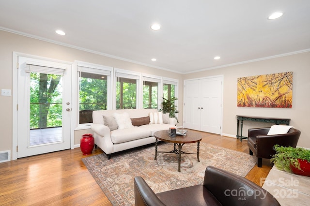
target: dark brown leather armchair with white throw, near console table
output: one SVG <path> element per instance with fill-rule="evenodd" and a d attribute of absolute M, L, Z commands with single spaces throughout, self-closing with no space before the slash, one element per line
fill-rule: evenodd
<path fill-rule="evenodd" d="M 269 130 L 270 127 L 248 129 L 249 154 L 255 154 L 258 167 L 262 167 L 262 158 L 271 159 L 276 154 L 275 145 L 296 147 L 300 136 L 300 131 L 295 128 L 285 134 L 267 135 Z"/>

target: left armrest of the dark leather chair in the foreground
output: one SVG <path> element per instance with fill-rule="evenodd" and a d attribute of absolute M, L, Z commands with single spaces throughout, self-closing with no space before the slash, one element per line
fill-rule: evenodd
<path fill-rule="evenodd" d="M 136 206 L 165 206 L 142 177 L 135 177 L 134 190 Z"/>

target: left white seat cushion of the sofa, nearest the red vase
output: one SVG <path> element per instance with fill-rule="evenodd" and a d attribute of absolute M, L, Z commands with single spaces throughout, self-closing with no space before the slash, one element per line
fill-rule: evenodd
<path fill-rule="evenodd" d="M 113 144 L 142 139 L 149 136 L 151 136 L 151 131 L 140 127 L 131 127 L 111 131 L 111 140 Z"/>

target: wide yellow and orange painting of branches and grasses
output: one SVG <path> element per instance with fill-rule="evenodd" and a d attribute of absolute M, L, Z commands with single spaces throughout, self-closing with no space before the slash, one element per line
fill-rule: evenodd
<path fill-rule="evenodd" d="M 237 106 L 292 108 L 293 72 L 238 78 Z"/>

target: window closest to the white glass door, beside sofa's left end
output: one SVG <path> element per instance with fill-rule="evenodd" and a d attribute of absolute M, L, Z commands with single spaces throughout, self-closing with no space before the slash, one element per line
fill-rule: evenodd
<path fill-rule="evenodd" d="M 79 123 L 93 122 L 93 110 L 109 107 L 110 68 L 78 66 L 79 72 Z"/>

